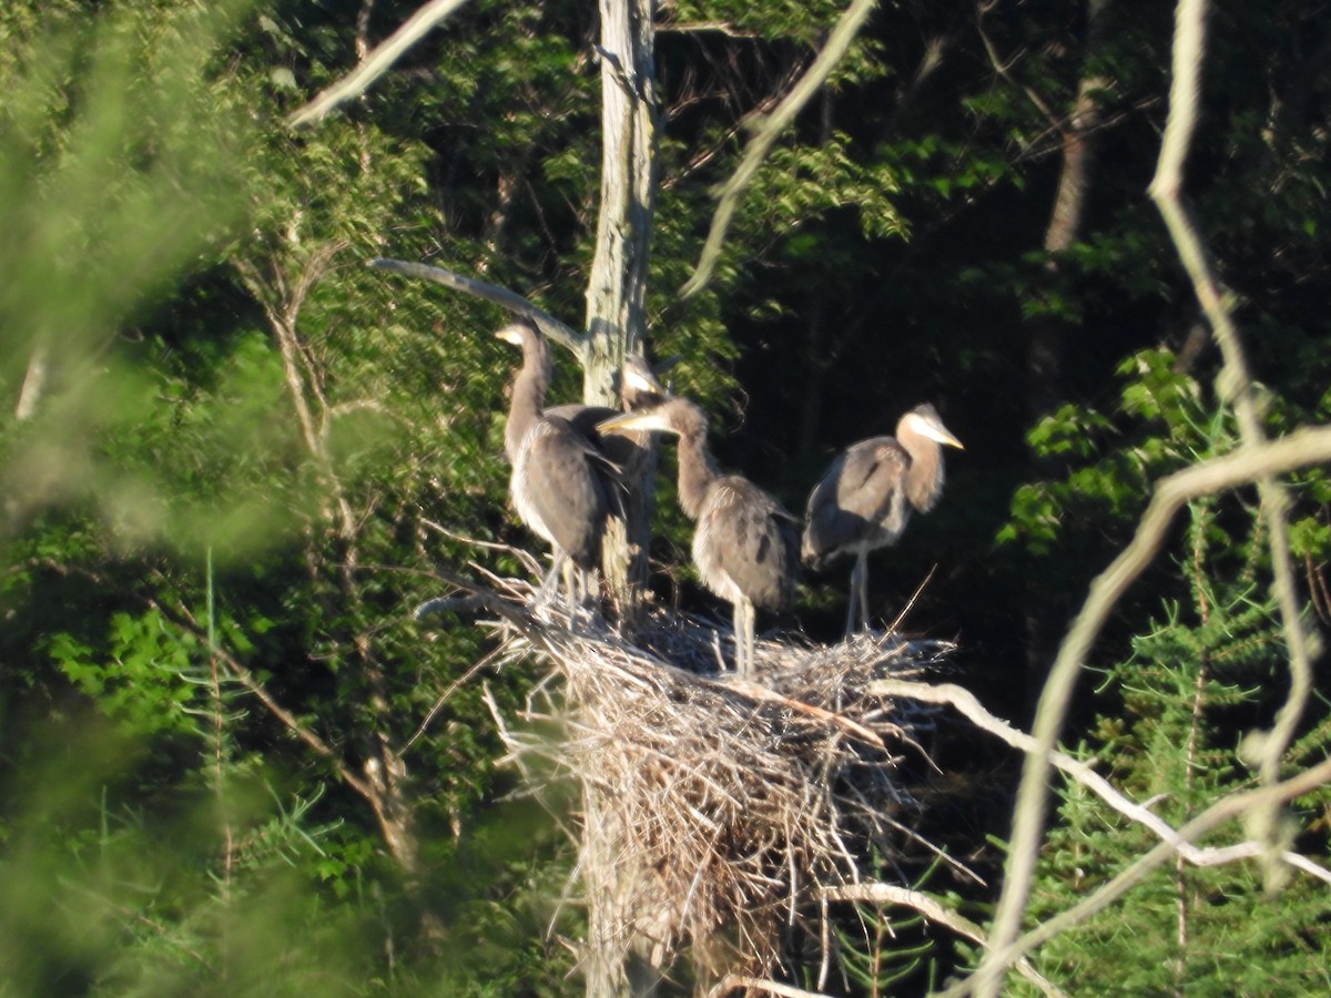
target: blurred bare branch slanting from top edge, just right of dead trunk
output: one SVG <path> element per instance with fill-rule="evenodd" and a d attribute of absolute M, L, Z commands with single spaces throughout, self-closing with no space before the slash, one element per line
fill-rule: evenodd
<path fill-rule="evenodd" d="M 692 277 L 684 282 L 684 286 L 680 287 L 680 298 L 693 297 L 711 281 L 712 271 L 716 269 L 716 261 L 721 254 L 721 245 L 725 242 L 725 232 L 729 229 L 731 218 L 739 206 L 740 194 L 744 193 L 749 181 L 753 180 L 753 174 L 763 165 L 763 160 L 767 158 L 781 132 L 804 109 L 804 105 L 813 98 L 819 88 L 827 83 L 832 69 L 845 56 L 851 48 L 851 43 L 855 41 L 855 36 L 860 33 L 860 28 L 864 27 L 874 7 L 877 7 L 877 0 L 855 0 L 847 8 L 845 13 L 841 15 L 841 20 L 832 28 L 827 45 L 819 52 L 819 57 L 813 60 L 813 65 L 800 77 L 799 83 L 795 84 L 791 93 L 781 101 L 777 109 L 772 112 L 771 117 L 765 118 L 755 132 L 735 174 L 721 188 L 721 197 L 716 205 L 716 214 L 712 216 L 712 228 L 707 233 L 707 242 L 703 245 L 697 267 L 693 270 Z"/>

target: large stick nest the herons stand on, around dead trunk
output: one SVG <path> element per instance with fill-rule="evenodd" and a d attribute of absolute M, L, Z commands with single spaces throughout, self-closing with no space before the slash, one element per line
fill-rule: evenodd
<path fill-rule="evenodd" d="M 898 766 L 928 765 L 913 733 L 937 708 L 868 688 L 918 676 L 950 645 L 760 640 L 745 683 L 720 671 L 731 635 L 712 623 L 656 609 L 627 640 L 559 605 L 532 616 L 524 584 L 496 582 L 507 599 L 483 605 L 498 611 L 504 656 L 551 668 L 527 720 L 563 736 L 496 720 L 511 761 L 544 756 L 583 786 L 584 885 L 588 864 L 612 865 L 600 945 L 620 957 L 634 945 L 658 966 L 687 947 L 708 974 L 765 973 L 808 938 L 827 957 L 829 892 L 870 876 L 870 854 L 890 865 L 918 844 Z"/>

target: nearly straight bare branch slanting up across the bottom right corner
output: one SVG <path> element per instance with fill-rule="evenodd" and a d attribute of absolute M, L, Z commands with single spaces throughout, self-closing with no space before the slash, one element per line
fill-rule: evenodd
<path fill-rule="evenodd" d="M 1226 821 L 1239 818 L 1246 813 L 1251 813 L 1262 808 L 1279 806 L 1280 804 L 1294 800 L 1295 797 L 1311 793 L 1328 780 L 1331 780 L 1331 758 L 1319 762 L 1311 769 L 1304 769 L 1302 773 L 1286 780 L 1284 782 L 1223 797 L 1183 825 L 1178 834 L 1181 838 L 1187 841 L 1201 838 L 1211 829 L 1223 825 Z M 998 950 L 996 953 L 997 958 L 1002 963 L 1009 963 L 1022 954 L 1030 953 L 1033 949 L 1051 939 L 1058 933 L 1086 921 L 1098 912 L 1102 912 L 1131 888 L 1141 884 L 1142 880 L 1145 880 L 1146 876 L 1157 866 L 1162 866 L 1169 862 L 1173 853 L 1174 846 L 1169 842 L 1161 842 L 1083 901 L 1079 901 L 1067 910 L 1061 912 L 1053 918 L 1042 922 L 1038 927 L 1032 929 L 1004 950 Z M 957 995 L 968 994 L 973 981 L 974 978 L 962 981 L 960 985 L 942 991 L 940 998 L 956 998 Z"/>

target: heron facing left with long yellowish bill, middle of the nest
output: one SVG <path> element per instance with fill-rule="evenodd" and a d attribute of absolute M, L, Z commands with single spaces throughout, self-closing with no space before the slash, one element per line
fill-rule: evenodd
<path fill-rule="evenodd" d="M 795 596 L 795 518 L 747 478 L 716 470 L 707 448 L 707 416 L 688 399 L 667 399 L 602 428 L 679 436 L 679 504 L 697 522 L 693 563 L 703 585 L 735 607 L 735 668 L 752 676 L 755 607 L 781 609 Z"/>

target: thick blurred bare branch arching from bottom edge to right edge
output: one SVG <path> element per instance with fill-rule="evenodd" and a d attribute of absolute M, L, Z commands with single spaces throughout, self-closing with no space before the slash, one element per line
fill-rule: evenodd
<path fill-rule="evenodd" d="M 1017 789 L 1008 870 L 992 933 L 996 946 L 1006 949 L 1016 938 L 1021 923 L 1044 826 L 1049 760 L 1058 740 L 1077 673 L 1119 596 L 1155 556 L 1174 514 L 1185 503 L 1202 495 L 1247 484 L 1262 475 L 1283 474 L 1327 460 L 1331 460 L 1331 427 L 1306 427 L 1271 443 L 1240 446 L 1222 458 L 1194 464 L 1159 480 L 1131 543 L 1091 582 L 1086 601 L 1073 620 L 1058 649 L 1058 657 L 1049 671 L 1032 731 L 1034 744 L 1026 756 L 1021 785 Z M 1004 929 L 1006 939 L 1000 935 L 1000 927 Z M 968 983 L 976 986 L 977 993 L 985 993 L 981 983 L 990 987 L 997 985 L 1002 971 L 998 951 L 990 951 L 969 979 Z M 993 994 L 993 990 L 988 993 Z"/>

